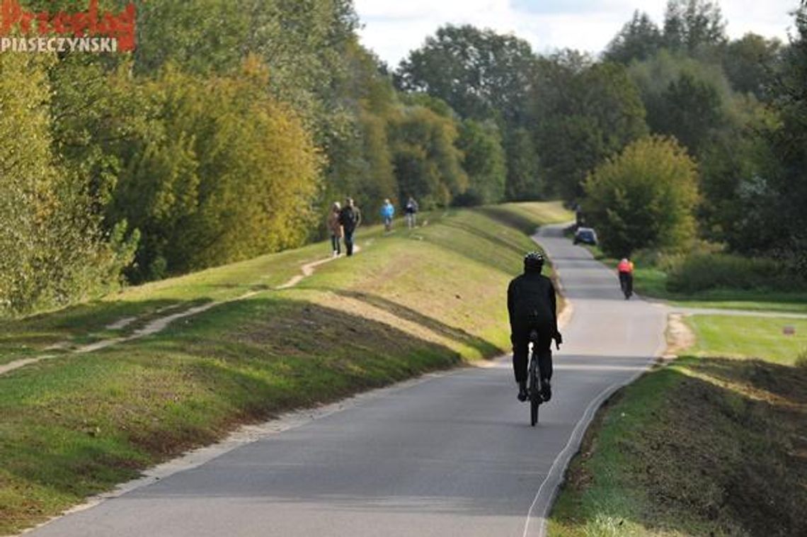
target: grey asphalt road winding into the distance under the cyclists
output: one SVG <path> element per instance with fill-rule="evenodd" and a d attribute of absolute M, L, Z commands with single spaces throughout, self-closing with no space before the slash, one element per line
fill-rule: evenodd
<path fill-rule="evenodd" d="M 667 314 L 624 300 L 616 275 L 559 227 L 538 240 L 574 313 L 537 427 L 504 358 L 370 397 L 30 535 L 541 535 L 588 421 L 660 350 Z"/>

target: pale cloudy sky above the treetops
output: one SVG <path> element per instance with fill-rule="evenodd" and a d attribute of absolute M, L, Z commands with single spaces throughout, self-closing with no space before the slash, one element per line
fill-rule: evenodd
<path fill-rule="evenodd" d="M 723 0 L 729 36 L 754 31 L 786 40 L 799 0 Z M 362 43 L 391 67 L 445 23 L 473 24 L 529 41 L 536 52 L 601 52 L 633 10 L 663 22 L 667 0 L 355 0 Z"/>

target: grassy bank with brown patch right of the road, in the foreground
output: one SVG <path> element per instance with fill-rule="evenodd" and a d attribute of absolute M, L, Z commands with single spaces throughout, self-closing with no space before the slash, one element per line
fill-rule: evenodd
<path fill-rule="evenodd" d="M 807 322 L 690 324 L 692 355 L 600 409 L 550 535 L 807 535 Z"/>

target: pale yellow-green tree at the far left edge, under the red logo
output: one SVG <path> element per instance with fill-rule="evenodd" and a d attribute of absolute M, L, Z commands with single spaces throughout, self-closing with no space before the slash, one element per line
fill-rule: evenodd
<path fill-rule="evenodd" d="M 107 291 L 131 262 L 124 224 L 103 237 L 81 178 L 52 140 L 55 58 L 0 55 L 0 312 L 29 313 Z M 105 240 L 106 239 L 106 240 Z"/>

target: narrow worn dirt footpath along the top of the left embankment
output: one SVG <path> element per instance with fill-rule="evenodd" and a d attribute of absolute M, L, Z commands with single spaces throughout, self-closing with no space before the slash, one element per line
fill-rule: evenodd
<path fill-rule="evenodd" d="M 354 246 L 353 249 L 354 253 L 358 254 L 361 251 L 361 248 L 358 245 Z M 275 291 L 282 291 L 284 289 L 289 289 L 291 287 L 295 287 L 298 283 L 303 281 L 303 279 L 307 278 L 308 276 L 314 274 L 314 271 L 317 266 L 324 265 L 324 263 L 332 262 L 338 258 L 323 258 L 318 259 L 316 261 L 312 261 L 300 266 L 300 271 L 302 274 L 295 275 L 291 277 L 286 283 L 282 283 L 278 285 L 278 287 L 274 287 Z M 41 362 L 43 360 L 49 360 L 54 358 L 59 358 L 60 356 L 67 356 L 67 355 L 83 355 L 88 352 L 94 352 L 95 350 L 106 349 L 107 347 L 119 345 L 120 343 L 124 342 L 131 342 L 136 339 L 144 338 L 145 336 L 150 336 L 153 334 L 158 334 L 163 331 L 168 325 L 170 325 L 174 321 L 178 321 L 179 319 L 184 319 L 186 317 L 192 317 L 194 315 L 198 315 L 199 313 L 206 312 L 208 309 L 215 308 L 215 306 L 219 306 L 221 304 L 229 304 L 232 302 L 237 302 L 239 300 L 246 300 L 257 294 L 265 292 L 265 291 L 250 291 L 246 292 L 241 296 L 236 296 L 235 298 L 231 298 L 228 300 L 215 300 L 213 302 L 207 302 L 207 304 L 201 304 L 199 306 L 194 306 L 193 308 L 188 308 L 183 310 L 182 312 L 172 313 L 170 315 L 166 315 L 165 317 L 158 317 L 153 321 L 150 321 L 147 325 L 143 328 L 137 329 L 132 334 L 122 336 L 120 338 L 108 338 L 102 339 L 101 341 L 89 343 L 87 345 L 79 346 L 74 350 L 71 350 L 67 354 L 51 354 L 51 355 L 40 355 L 35 356 L 33 358 L 26 358 L 15 360 L 14 362 L 6 363 L 5 365 L 0 365 L 0 375 L 8 373 L 9 371 L 14 371 L 15 369 L 19 369 L 20 367 L 25 367 L 31 365 L 31 363 Z M 113 323 L 110 325 L 110 328 L 123 328 L 126 325 L 132 324 L 133 321 L 136 321 L 136 317 L 127 317 L 126 319 L 121 319 L 117 323 Z M 59 348 L 64 346 L 67 342 L 57 343 L 51 348 Z"/>

